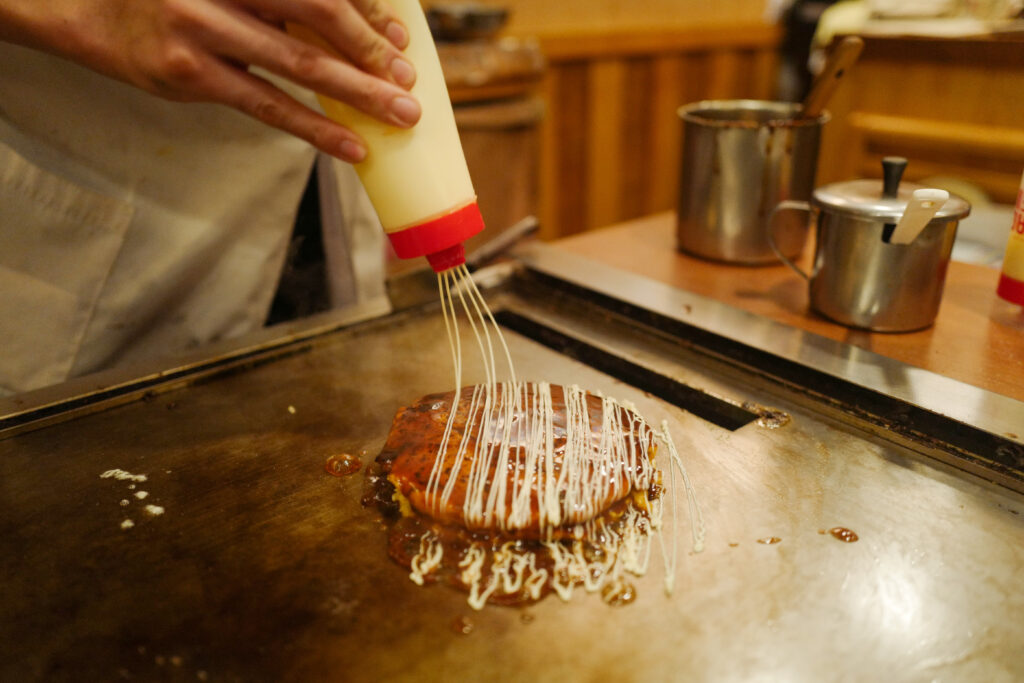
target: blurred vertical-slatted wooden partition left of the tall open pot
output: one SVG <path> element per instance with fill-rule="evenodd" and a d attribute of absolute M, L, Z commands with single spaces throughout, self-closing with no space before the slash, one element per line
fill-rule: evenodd
<path fill-rule="evenodd" d="M 681 124 L 700 99 L 771 98 L 779 33 L 615 32 L 542 40 L 541 237 L 554 239 L 675 206 Z"/>

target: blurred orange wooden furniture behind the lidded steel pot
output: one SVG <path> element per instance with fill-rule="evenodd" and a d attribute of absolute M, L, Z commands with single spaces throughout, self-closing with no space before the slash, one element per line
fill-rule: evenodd
<path fill-rule="evenodd" d="M 1012 204 L 1024 169 L 1024 38 L 865 36 L 828 105 L 818 184 L 880 177 L 887 155 L 905 178 L 953 177 Z"/>

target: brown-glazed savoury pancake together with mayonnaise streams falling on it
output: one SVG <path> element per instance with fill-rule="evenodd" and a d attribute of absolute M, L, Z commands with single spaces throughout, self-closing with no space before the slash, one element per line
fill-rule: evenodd
<path fill-rule="evenodd" d="M 568 600 L 578 587 L 624 604 L 657 535 L 671 592 L 675 535 L 666 544 L 658 531 L 666 501 L 669 520 L 677 516 L 677 473 L 694 549 L 703 526 L 667 425 L 654 429 L 632 405 L 579 386 L 520 381 L 465 267 L 439 273 L 438 287 L 456 389 L 401 409 L 378 458 L 403 511 L 391 556 L 417 584 L 460 586 L 477 609 L 549 592 Z M 480 384 L 463 386 L 459 310 L 483 360 Z M 654 464 L 659 451 L 668 476 Z"/>

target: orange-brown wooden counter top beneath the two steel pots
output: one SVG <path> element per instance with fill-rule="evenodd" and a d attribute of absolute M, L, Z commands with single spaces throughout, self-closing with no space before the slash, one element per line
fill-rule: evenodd
<path fill-rule="evenodd" d="M 1024 400 L 1024 309 L 995 296 L 998 270 L 953 261 L 934 326 L 912 333 L 871 333 L 852 330 L 810 312 L 806 282 L 784 265 L 726 265 L 680 254 L 676 251 L 675 225 L 675 214 L 660 213 L 559 240 L 553 245 L 778 323 Z M 809 254 L 810 245 L 802 259 L 805 267 Z"/>

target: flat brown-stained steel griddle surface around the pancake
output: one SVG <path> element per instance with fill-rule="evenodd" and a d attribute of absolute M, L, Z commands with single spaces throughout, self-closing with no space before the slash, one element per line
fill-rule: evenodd
<path fill-rule="evenodd" d="M 613 362 L 605 373 L 551 339 L 506 333 L 520 377 L 668 421 L 708 525 L 706 550 L 691 553 L 680 497 L 671 597 L 656 549 L 623 607 L 580 590 L 569 603 L 474 612 L 387 559 L 379 518 L 359 504 L 362 475 L 324 465 L 369 463 L 398 405 L 451 388 L 427 305 L 0 440 L 0 680 L 1024 677 L 1020 495 L 613 314 L 513 289 L 488 297 L 729 404 L 792 416 L 774 430 L 720 426 L 615 379 Z M 100 478 L 114 468 L 147 480 Z M 822 533 L 834 526 L 860 540 Z M 758 542 L 769 537 L 781 541 Z"/>

